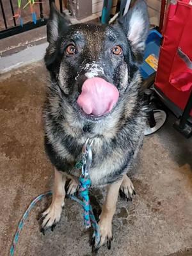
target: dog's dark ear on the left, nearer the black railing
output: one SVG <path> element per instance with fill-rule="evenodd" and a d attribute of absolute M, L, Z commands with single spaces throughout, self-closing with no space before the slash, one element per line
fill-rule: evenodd
<path fill-rule="evenodd" d="M 60 33 L 65 31 L 70 25 L 65 13 L 60 13 L 56 9 L 54 2 L 51 3 L 49 20 L 47 21 L 47 41 L 52 44 L 58 40 Z"/>

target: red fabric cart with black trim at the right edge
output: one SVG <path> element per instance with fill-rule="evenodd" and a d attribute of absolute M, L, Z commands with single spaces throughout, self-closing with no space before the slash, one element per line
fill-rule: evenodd
<path fill-rule="evenodd" d="M 171 1 L 163 26 L 163 44 L 155 81 L 160 99 L 179 118 L 175 125 L 191 134 L 192 116 L 192 1 Z"/>

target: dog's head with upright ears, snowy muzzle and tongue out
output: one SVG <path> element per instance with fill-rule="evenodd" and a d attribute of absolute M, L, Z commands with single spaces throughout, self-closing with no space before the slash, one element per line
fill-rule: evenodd
<path fill-rule="evenodd" d="M 147 33 L 143 0 L 109 26 L 71 25 L 52 5 L 45 63 L 81 118 L 97 121 L 118 106 L 142 61 Z"/>

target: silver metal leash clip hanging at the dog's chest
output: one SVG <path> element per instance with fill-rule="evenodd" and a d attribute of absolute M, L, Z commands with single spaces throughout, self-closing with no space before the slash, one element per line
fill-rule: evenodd
<path fill-rule="evenodd" d="M 92 144 L 93 140 L 87 139 L 83 145 L 83 166 L 81 168 L 81 175 L 85 179 L 90 175 L 90 166 L 92 164 Z"/>

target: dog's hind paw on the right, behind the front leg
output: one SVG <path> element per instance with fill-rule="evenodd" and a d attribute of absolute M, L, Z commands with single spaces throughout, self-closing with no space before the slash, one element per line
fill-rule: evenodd
<path fill-rule="evenodd" d="M 124 199 L 127 199 L 127 201 L 132 201 L 132 196 L 136 194 L 134 191 L 134 186 L 132 184 L 132 181 L 131 179 L 129 179 L 127 174 L 124 174 L 124 179 L 120 186 L 119 193 L 120 193 L 120 196 Z"/>

